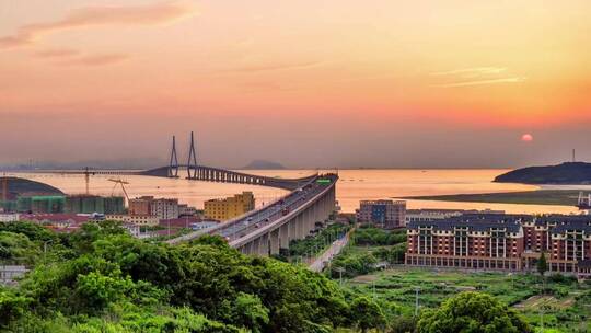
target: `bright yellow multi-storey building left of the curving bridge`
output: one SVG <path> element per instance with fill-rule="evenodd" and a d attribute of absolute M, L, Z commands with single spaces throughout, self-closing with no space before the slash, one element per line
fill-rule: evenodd
<path fill-rule="evenodd" d="M 224 199 L 205 202 L 207 218 L 225 221 L 255 209 L 255 198 L 252 192 L 243 192 Z"/>

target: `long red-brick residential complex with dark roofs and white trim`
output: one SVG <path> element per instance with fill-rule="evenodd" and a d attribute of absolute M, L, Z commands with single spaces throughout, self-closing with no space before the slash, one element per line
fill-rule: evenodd
<path fill-rule="evenodd" d="M 471 269 L 548 271 L 589 276 L 590 216 L 462 215 L 407 226 L 406 264 Z"/>

